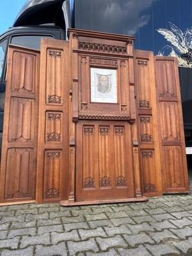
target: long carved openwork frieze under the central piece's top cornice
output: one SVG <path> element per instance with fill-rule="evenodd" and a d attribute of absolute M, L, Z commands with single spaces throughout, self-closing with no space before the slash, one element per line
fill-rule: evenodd
<path fill-rule="evenodd" d="M 102 51 L 111 53 L 127 54 L 127 47 L 120 45 L 96 44 L 90 42 L 80 42 L 79 49 L 86 51 Z"/>

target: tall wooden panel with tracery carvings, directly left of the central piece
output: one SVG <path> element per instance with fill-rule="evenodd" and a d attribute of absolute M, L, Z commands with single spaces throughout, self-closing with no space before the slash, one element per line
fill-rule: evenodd
<path fill-rule="evenodd" d="M 42 40 L 36 202 L 68 193 L 68 42 Z"/>

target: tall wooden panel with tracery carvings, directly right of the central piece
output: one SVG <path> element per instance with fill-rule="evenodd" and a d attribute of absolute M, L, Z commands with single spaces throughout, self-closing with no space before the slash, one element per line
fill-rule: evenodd
<path fill-rule="evenodd" d="M 162 195 L 154 54 L 134 51 L 142 193 Z"/>

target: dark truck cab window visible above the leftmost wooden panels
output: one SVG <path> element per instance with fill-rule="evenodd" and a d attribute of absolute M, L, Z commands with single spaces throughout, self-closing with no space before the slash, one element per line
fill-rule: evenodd
<path fill-rule="evenodd" d="M 19 35 L 13 36 L 11 44 L 20 45 L 32 49 L 40 50 L 41 38 L 54 38 L 52 35 Z"/>

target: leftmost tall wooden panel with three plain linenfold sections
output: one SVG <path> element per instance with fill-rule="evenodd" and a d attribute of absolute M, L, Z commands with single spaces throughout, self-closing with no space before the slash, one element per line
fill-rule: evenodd
<path fill-rule="evenodd" d="M 40 52 L 10 45 L 0 202 L 35 200 Z"/>

